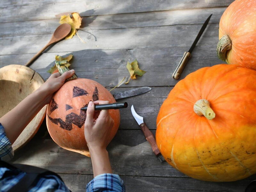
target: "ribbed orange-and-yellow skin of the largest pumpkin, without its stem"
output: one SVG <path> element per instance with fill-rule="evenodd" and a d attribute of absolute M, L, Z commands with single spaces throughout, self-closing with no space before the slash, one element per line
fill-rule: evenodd
<path fill-rule="evenodd" d="M 156 142 L 165 160 L 190 177 L 235 181 L 256 173 L 256 71 L 216 65 L 189 74 L 157 116 Z M 210 101 L 212 120 L 193 110 Z"/>

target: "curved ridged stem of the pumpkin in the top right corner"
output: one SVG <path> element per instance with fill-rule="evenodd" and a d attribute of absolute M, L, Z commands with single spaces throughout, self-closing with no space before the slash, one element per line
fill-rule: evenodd
<path fill-rule="evenodd" d="M 217 55 L 218 57 L 226 61 L 227 59 L 227 51 L 230 50 L 232 47 L 232 42 L 228 35 L 224 35 L 221 37 L 219 43 L 217 44 Z"/>

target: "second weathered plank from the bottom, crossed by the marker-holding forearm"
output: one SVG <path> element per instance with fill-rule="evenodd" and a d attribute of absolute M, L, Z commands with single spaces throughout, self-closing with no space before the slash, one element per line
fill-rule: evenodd
<path fill-rule="evenodd" d="M 160 163 L 140 130 L 118 130 L 108 151 L 116 174 L 187 177 L 167 162 Z M 39 166 L 57 173 L 93 174 L 89 157 L 60 148 L 52 139 L 32 139 L 15 153 L 12 162 Z"/>

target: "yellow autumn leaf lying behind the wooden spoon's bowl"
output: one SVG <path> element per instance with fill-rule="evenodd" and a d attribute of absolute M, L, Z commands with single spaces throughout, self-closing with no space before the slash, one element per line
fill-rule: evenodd
<path fill-rule="evenodd" d="M 68 23 L 69 25 L 71 25 L 71 31 L 68 36 L 66 36 L 66 39 L 71 39 L 76 34 L 76 29 L 80 28 L 83 19 L 77 12 L 71 13 L 71 15 L 72 18 L 69 16 L 69 14 L 62 15 L 60 17 L 60 24 Z"/>

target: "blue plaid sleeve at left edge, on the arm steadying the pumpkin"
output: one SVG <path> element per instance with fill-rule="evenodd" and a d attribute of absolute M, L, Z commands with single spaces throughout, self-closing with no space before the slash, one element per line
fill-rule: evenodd
<path fill-rule="evenodd" d="M 12 144 L 6 137 L 4 127 L 0 123 L 0 159 L 3 161 L 10 161 L 13 157 Z"/>

